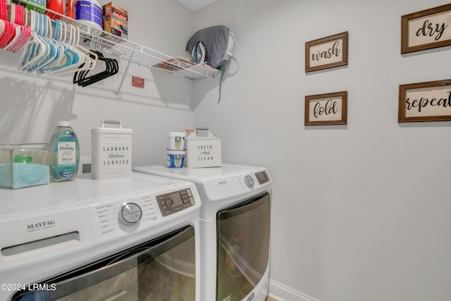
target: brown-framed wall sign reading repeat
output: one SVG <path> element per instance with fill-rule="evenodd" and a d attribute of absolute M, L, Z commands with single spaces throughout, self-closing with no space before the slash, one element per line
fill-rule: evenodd
<path fill-rule="evenodd" d="M 397 121 L 451 121 L 451 80 L 400 85 Z"/>

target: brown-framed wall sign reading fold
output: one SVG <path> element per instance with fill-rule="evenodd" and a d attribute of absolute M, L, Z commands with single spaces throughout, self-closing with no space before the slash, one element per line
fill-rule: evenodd
<path fill-rule="evenodd" d="M 304 125 L 347 123 L 347 91 L 305 97 Z"/>

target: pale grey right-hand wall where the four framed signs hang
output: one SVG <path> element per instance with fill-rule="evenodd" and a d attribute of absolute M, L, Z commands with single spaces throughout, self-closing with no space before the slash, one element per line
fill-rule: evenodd
<path fill-rule="evenodd" d="M 227 25 L 239 44 L 220 104 L 196 82 L 194 123 L 221 137 L 223 161 L 269 168 L 271 293 L 450 300 L 451 123 L 397 123 L 400 84 L 450 78 L 450 47 L 400 54 L 401 16 L 443 4 L 219 0 L 196 13 L 197 29 Z M 348 66 L 304 73 L 305 42 L 344 31 Z M 343 90 L 347 125 L 304 126 L 304 96 Z"/>

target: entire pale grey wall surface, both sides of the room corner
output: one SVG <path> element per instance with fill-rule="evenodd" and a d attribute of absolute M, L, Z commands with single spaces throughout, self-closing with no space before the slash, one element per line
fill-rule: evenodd
<path fill-rule="evenodd" d="M 271 172 L 272 293 L 449 300 L 451 123 L 397 123 L 398 85 L 450 78 L 451 50 L 401 56 L 400 16 L 445 1 L 219 0 L 195 14 L 175 0 L 115 2 L 130 11 L 131 40 L 170 55 L 194 30 L 232 28 L 240 70 L 223 81 L 221 104 L 214 80 L 193 86 L 133 66 L 146 89 L 128 76 L 116 97 L 120 78 L 75 87 L 18 73 L 18 56 L 0 51 L 0 143 L 47 141 L 66 119 L 89 156 L 90 130 L 116 118 L 134 130 L 133 165 L 164 164 L 168 130 L 209 126 L 223 161 Z M 304 43 L 343 31 L 349 65 L 306 75 Z M 305 95 L 342 90 L 347 125 L 304 127 Z"/>

